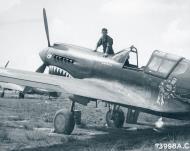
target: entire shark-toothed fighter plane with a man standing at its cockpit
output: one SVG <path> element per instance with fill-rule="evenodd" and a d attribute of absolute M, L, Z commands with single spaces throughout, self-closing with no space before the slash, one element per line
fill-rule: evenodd
<path fill-rule="evenodd" d="M 110 127 L 122 127 L 125 119 L 136 123 L 139 112 L 190 120 L 189 60 L 156 50 L 147 65 L 139 68 L 133 46 L 104 58 L 75 45 L 50 45 L 45 9 L 43 17 L 48 47 L 39 54 L 43 61 L 39 73 L 0 68 L 0 81 L 73 94 L 71 109 L 55 115 L 57 133 L 72 133 L 75 103 L 87 105 L 97 100 L 111 104 L 106 114 Z M 136 63 L 131 64 L 129 56 L 134 54 Z M 56 75 L 42 74 L 47 66 Z M 121 107 L 128 108 L 126 118 Z"/>

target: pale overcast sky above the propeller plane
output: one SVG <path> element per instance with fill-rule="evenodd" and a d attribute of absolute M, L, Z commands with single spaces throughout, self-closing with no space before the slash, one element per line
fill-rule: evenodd
<path fill-rule="evenodd" d="M 94 49 L 106 27 L 115 51 L 138 48 L 140 65 L 155 49 L 190 58 L 190 0 L 0 0 L 0 66 L 7 60 L 17 69 L 41 65 L 43 7 L 51 43 Z"/>

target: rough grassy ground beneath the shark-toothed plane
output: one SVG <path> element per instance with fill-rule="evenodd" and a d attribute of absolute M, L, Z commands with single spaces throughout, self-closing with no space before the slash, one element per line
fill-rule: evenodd
<path fill-rule="evenodd" d="M 6 92 L 0 99 L 0 151 L 152 151 L 155 143 L 189 143 L 189 123 L 164 119 L 167 130 L 155 131 L 159 117 L 140 114 L 138 125 L 124 125 L 122 129 L 106 126 L 107 108 L 100 102 L 88 106 L 77 105 L 82 111 L 82 124 L 75 126 L 71 135 L 53 132 L 53 117 L 57 110 L 70 108 L 67 94 L 59 99 L 28 95 L 18 99 L 17 94 Z M 125 109 L 126 111 L 126 109 Z"/>

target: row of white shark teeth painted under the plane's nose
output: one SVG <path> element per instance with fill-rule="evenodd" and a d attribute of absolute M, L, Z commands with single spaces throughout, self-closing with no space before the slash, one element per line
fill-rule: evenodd
<path fill-rule="evenodd" d="M 72 78 L 67 71 L 56 66 L 49 66 L 49 74 Z"/>

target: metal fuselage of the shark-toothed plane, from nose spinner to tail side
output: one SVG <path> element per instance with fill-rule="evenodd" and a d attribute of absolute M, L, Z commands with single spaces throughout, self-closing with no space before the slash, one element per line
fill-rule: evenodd
<path fill-rule="evenodd" d="M 167 101 L 163 106 L 158 107 L 155 114 L 171 118 L 189 119 L 190 86 L 187 82 L 190 82 L 190 78 L 186 75 L 190 74 L 190 62 L 187 59 L 182 58 L 177 62 L 167 77 L 160 77 L 146 71 L 147 67 L 124 67 L 123 63 L 115 61 L 112 57 L 104 58 L 102 53 L 74 45 L 54 45 L 42 51 L 40 56 L 49 66 L 63 69 L 74 78 L 110 81 L 110 83 L 119 87 L 126 87 L 126 90 L 136 91 L 136 93 L 150 99 L 153 103 L 158 101 L 161 83 L 175 77 L 178 79 L 175 94 L 182 96 L 181 100 L 177 98 L 173 99 L 173 102 Z M 187 67 L 183 74 L 178 74 L 175 69 L 177 70 L 177 67 L 184 62 Z M 183 99 L 183 97 L 185 98 Z M 147 112 L 149 111 L 147 110 Z M 154 114 L 153 112 L 150 113 Z"/>

